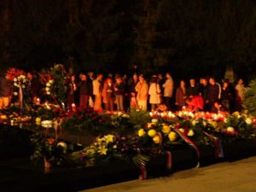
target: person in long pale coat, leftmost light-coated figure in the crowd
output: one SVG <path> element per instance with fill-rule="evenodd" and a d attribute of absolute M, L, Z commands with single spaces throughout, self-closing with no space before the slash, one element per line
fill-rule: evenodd
<path fill-rule="evenodd" d="M 97 78 L 93 80 L 93 95 L 95 96 L 94 110 L 102 112 L 102 79 L 103 75 L 98 74 Z"/>

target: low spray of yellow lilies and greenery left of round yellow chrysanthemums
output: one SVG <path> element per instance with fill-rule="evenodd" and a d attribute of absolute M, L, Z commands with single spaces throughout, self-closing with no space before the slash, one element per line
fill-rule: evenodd
<path fill-rule="evenodd" d="M 94 166 L 110 160 L 133 161 L 137 166 L 145 166 L 149 157 L 142 154 L 134 137 L 104 135 L 96 137 L 91 145 L 71 155 L 72 160 L 79 160 L 85 166 Z"/>

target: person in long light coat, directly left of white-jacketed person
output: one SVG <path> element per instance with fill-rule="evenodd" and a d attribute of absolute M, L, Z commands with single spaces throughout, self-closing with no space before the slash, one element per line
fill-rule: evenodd
<path fill-rule="evenodd" d="M 148 84 L 145 81 L 143 74 L 139 76 L 139 82 L 137 83 L 135 90 L 137 91 L 137 103 L 139 109 L 147 111 Z"/>

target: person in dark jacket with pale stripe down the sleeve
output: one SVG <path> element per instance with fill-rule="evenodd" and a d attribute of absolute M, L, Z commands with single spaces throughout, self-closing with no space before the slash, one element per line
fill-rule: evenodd
<path fill-rule="evenodd" d="M 215 79 L 209 79 L 209 92 L 207 96 L 207 103 L 209 107 L 212 109 L 214 107 L 214 103 L 218 102 L 221 96 L 221 87 L 219 84 L 215 82 Z"/>

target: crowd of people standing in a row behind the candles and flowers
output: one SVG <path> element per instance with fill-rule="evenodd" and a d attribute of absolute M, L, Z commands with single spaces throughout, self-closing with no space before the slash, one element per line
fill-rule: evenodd
<path fill-rule="evenodd" d="M 40 94 L 40 85 L 27 73 L 32 101 Z M 218 84 L 214 78 L 201 78 L 199 82 L 180 80 L 174 85 L 171 73 L 153 75 L 149 80 L 143 74 L 127 76 L 80 73 L 71 74 L 67 82 L 67 108 L 75 104 L 79 108 L 93 108 L 96 112 L 124 112 L 129 108 L 142 110 L 176 111 L 184 106 L 192 111 L 241 111 L 246 88 L 243 79 L 231 84 L 228 79 Z M 6 77 L 0 78 L 0 108 L 8 108 L 12 88 Z"/>

